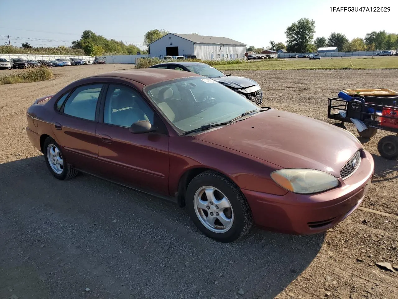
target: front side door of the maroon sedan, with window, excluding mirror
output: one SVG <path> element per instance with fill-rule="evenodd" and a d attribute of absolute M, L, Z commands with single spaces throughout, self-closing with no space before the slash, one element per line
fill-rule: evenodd
<path fill-rule="evenodd" d="M 131 187 L 168 195 L 169 136 L 146 99 L 131 86 L 109 84 L 97 125 L 103 175 Z M 133 134 L 130 126 L 148 120 L 156 132 Z"/>

